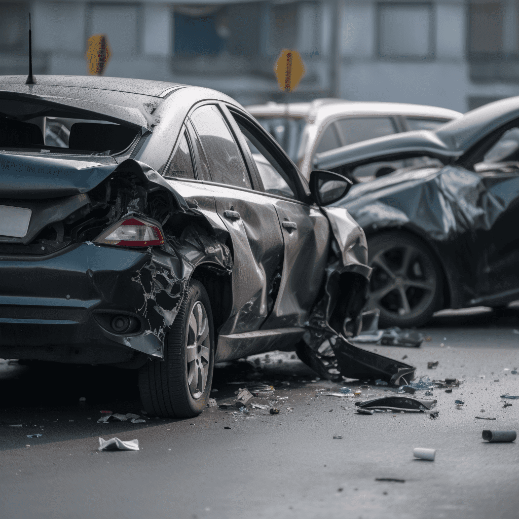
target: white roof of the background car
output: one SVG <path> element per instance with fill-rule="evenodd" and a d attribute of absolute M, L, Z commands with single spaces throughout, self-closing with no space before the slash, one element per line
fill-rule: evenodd
<path fill-rule="evenodd" d="M 379 101 L 346 101 L 343 99 L 316 99 L 308 103 L 266 103 L 245 107 L 255 117 L 303 117 L 308 122 L 318 122 L 337 116 L 398 114 L 458 119 L 463 114 L 448 108 L 408 103 Z"/>

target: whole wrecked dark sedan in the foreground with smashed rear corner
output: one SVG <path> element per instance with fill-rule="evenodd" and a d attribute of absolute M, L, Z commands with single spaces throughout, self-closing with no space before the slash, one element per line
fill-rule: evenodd
<path fill-rule="evenodd" d="M 346 340 L 371 269 L 327 206 L 351 183 L 309 187 L 224 94 L 0 77 L 0 167 L 0 357 L 138 369 L 146 411 L 170 417 L 202 412 L 215 362 L 275 349 L 328 377 L 409 373 Z"/>

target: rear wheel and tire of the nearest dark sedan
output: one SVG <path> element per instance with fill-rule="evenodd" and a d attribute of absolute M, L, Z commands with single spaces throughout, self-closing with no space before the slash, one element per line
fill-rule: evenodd
<path fill-rule="evenodd" d="M 189 288 L 164 342 L 164 360 L 149 360 L 139 372 L 145 411 L 152 416 L 192 418 L 206 408 L 214 366 L 214 330 L 206 289 Z"/>

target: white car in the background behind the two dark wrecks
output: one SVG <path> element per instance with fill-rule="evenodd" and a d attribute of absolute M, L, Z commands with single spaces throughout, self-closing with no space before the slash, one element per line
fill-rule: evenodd
<path fill-rule="evenodd" d="M 462 114 L 446 108 L 402 103 L 316 99 L 308 103 L 267 103 L 247 110 L 278 141 L 309 179 L 322 153 L 412 130 L 434 130 Z M 390 160 L 356 171 L 353 182 L 372 180 L 413 164 Z"/>

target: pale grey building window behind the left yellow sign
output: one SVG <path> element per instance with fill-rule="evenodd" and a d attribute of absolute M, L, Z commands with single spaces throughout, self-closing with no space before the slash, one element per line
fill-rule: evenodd
<path fill-rule="evenodd" d="M 90 15 L 90 35 L 105 34 L 112 56 L 136 54 L 139 8 L 93 4 Z"/>

